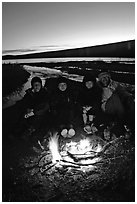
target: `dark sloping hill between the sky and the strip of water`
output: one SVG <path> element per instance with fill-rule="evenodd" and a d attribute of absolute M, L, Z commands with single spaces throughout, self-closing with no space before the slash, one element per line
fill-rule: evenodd
<path fill-rule="evenodd" d="M 59 57 L 135 57 L 135 40 L 52 52 L 42 52 L 25 55 L 6 55 L 2 56 L 2 59 L 5 60 Z"/>

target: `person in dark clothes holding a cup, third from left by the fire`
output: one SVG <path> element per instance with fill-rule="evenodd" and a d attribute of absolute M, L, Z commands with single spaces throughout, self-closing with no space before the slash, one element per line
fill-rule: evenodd
<path fill-rule="evenodd" d="M 85 75 L 78 95 L 78 103 L 83 111 L 84 130 L 88 133 L 94 129 L 93 121 L 97 125 L 98 115 L 101 111 L 101 97 L 102 89 L 98 86 L 96 77 L 92 74 Z"/>

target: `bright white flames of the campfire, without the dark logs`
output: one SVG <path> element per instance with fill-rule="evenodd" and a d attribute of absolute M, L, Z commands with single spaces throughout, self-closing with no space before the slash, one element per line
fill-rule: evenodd
<path fill-rule="evenodd" d="M 73 157 L 70 157 L 68 152 L 72 155 L 83 155 L 82 159 L 79 161 L 79 164 L 86 164 L 86 165 L 92 165 L 98 161 L 100 161 L 100 158 L 89 158 L 85 159 L 87 155 L 90 155 L 93 150 L 93 152 L 100 152 L 102 150 L 102 146 L 98 143 L 96 147 L 93 147 L 92 142 L 88 139 L 82 139 L 79 142 L 69 142 L 66 143 L 65 151 L 59 151 L 59 135 L 58 133 L 55 133 L 53 136 L 49 139 L 49 149 L 52 154 L 52 162 L 55 165 L 63 165 L 63 158 L 65 156 L 66 162 L 72 162 L 74 164 Z M 65 165 L 65 164 L 64 164 Z M 77 163 L 76 163 L 77 165 Z M 82 170 L 82 169 L 81 169 Z"/>

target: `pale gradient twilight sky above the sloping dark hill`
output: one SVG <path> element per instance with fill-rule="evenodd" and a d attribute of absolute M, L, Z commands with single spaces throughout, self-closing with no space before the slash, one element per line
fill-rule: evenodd
<path fill-rule="evenodd" d="M 2 53 L 87 47 L 135 39 L 134 2 L 3 2 Z"/>

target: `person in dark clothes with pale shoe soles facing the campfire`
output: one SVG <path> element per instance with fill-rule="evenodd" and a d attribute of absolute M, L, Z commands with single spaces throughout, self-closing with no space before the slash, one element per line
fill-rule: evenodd
<path fill-rule="evenodd" d="M 74 124 L 72 124 L 74 120 L 74 100 L 69 85 L 69 80 L 60 76 L 57 79 L 56 89 L 50 97 L 52 125 L 54 128 L 60 129 L 61 135 L 64 137 L 75 135 Z"/>

